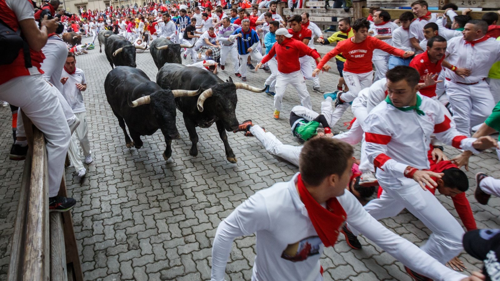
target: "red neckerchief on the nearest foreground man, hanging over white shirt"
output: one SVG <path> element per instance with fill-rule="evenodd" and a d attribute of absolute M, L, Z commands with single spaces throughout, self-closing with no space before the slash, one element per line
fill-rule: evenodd
<path fill-rule="evenodd" d="M 297 189 L 319 239 L 325 247 L 333 246 L 337 241 L 338 233 L 345 224 L 347 218 L 345 210 L 335 197 L 329 198 L 326 201 L 326 208 L 323 208 L 305 188 L 300 174 L 297 175 Z"/>

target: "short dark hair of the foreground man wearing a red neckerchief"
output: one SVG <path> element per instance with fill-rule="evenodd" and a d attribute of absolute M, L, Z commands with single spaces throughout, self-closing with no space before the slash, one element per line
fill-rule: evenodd
<path fill-rule="evenodd" d="M 313 137 L 300 151 L 300 176 L 305 183 L 318 186 L 330 174 L 342 175 L 345 169 L 350 169 L 347 161 L 352 154 L 352 146 L 347 142 L 331 137 Z"/>

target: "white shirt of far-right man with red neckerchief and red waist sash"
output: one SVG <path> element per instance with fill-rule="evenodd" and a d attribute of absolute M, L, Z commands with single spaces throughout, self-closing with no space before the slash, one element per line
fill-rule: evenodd
<path fill-rule="evenodd" d="M 445 68 L 446 77 L 451 81 L 475 83 L 488 76 L 489 68 L 495 61 L 500 60 L 500 41 L 488 38 L 474 44 L 465 44 L 463 36 L 448 40 L 446 61 L 456 67 L 470 69 L 469 76 L 462 78 L 450 69 Z"/>

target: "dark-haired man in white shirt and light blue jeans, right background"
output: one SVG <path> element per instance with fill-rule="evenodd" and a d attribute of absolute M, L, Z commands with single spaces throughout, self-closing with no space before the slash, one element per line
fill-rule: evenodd
<path fill-rule="evenodd" d="M 410 11 L 405 11 L 401 13 L 401 15 L 399 15 L 399 23 L 401 24 L 401 26 L 392 31 L 392 46 L 405 51 L 415 51 L 415 49 L 411 45 L 411 42 L 409 41 L 409 25 L 412 20 L 413 13 Z M 388 69 L 392 69 L 397 65 L 408 66 L 412 58 L 413 56 L 399 57 L 390 55 Z"/>

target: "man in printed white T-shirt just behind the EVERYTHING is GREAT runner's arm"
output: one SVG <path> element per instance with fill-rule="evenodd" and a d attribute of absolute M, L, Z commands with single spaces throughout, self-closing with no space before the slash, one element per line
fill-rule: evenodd
<path fill-rule="evenodd" d="M 392 45 L 392 32 L 399 26 L 390 21 L 390 14 L 383 9 L 379 9 L 373 13 L 373 24 L 368 32 L 371 36 Z M 383 50 L 373 50 L 371 58 L 375 65 L 374 81 L 385 77 L 385 72 L 388 70 L 389 54 Z"/>

